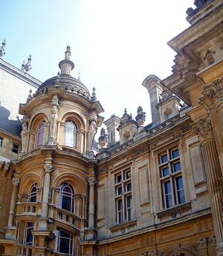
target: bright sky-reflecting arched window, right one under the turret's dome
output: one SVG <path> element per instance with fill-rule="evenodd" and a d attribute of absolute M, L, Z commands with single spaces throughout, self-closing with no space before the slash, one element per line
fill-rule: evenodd
<path fill-rule="evenodd" d="M 62 144 L 77 149 L 77 125 L 71 119 L 65 122 Z"/>

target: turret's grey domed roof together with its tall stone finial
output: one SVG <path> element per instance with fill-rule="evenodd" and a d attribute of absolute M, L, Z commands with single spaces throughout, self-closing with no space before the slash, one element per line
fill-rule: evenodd
<path fill-rule="evenodd" d="M 74 63 L 70 60 L 71 56 L 71 47 L 68 46 L 65 51 L 65 60 L 61 60 L 59 62 L 59 69 L 61 69 L 61 75 L 59 72 L 57 76 L 54 78 L 50 78 L 44 83 L 42 83 L 34 96 L 45 93 L 47 91 L 47 87 L 56 87 L 56 86 L 64 86 L 65 90 L 69 92 L 78 93 L 85 98 L 91 100 L 90 93 L 88 89 L 84 86 L 82 82 L 77 80 L 76 78 L 71 77 L 71 70 L 74 69 Z"/>

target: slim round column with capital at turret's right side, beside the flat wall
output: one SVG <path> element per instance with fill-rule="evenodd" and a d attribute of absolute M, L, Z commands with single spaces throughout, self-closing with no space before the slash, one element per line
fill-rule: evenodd
<path fill-rule="evenodd" d="M 89 189 L 89 212 L 88 212 L 88 227 L 94 228 L 94 184 L 97 183 L 97 179 L 92 177 L 88 178 L 90 185 Z"/>

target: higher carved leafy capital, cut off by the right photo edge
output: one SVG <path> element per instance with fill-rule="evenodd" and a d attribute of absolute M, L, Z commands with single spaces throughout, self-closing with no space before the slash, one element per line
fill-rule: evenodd
<path fill-rule="evenodd" d="M 205 84 L 204 90 L 201 91 L 204 96 L 207 96 L 210 99 L 210 102 L 217 105 L 223 102 L 223 76 L 211 84 Z"/>

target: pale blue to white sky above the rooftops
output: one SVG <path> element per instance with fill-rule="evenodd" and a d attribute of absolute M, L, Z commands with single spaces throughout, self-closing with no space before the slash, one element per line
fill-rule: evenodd
<path fill-rule="evenodd" d="M 151 122 L 148 75 L 171 75 L 175 52 L 167 42 L 188 28 L 186 10 L 194 0 L 0 0 L 0 42 L 4 60 L 21 68 L 32 54 L 30 75 L 45 81 L 57 74 L 66 46 L 75 68 L 71 75 L 96 89 L 106 119 L 137 107 Z M 23 103 L 23 102 L 21 102 Z"/>

